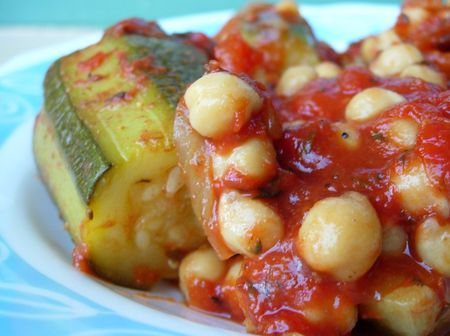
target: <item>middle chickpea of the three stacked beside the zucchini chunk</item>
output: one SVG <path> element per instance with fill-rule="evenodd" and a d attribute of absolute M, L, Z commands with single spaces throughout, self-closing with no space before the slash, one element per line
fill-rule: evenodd
<path fill-rule="evenodd" d="M 255 179 L 272 177 L 276 167 L 276 153 L 272 144 L 262 139 L 250 139 L 233 149 L 229 156 L 215 156 L 213 159 L 214 177 L 226 173 L 229 167 Z"/>

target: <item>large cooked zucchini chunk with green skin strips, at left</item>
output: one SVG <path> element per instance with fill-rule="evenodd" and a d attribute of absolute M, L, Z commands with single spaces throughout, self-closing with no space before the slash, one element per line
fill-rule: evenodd
<path fill-rule="evenodd" d="M 116 284 L 174 278 L 204 241 L 172 132 L 176 104 L 207 61 L 156 24 L 128 20 L 47 72 L 37 166 L 90 268 Z"/>

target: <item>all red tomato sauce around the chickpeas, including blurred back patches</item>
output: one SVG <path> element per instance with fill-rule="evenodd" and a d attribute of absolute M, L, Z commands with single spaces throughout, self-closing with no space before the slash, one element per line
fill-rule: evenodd
<path fill-rule="evenodd" d="M 253 20 L 260 19 L 258 13 Z M 246 75 L 255 77 L 256 67 L 262 64 L 277 78 L 280 54 L 252 48 L 238 29 L 239 20 L 242 18 L 231 20 L 216 38 L 216 70 L 244 74 L 242 77 L 247 80 Z M 426 21 L 422 29 L 436 36 L 428 42 L 422 38 L 424 33 L 417 35 L 404 25 L 400 18 L 396 29 L 402 38 L 426 50 L 427 60 L 435 57 L 431 63 L 442 71 L 448 69 L 447 46 L 442 36 L 448 35 L 446 29 L 450 24 L 434 19 Z M 270 44 L 268 39 L 267 45 Z M 358 51 L 358 45 L 352 47 L 353 53 Z M 322 54 L 335 57 L 326 49 Z M 216 198 L 225 189 L 237 189 L 275 209 L 284 222 L 284 237 L 269 250 L 259 251 L 256 257 L 244 257 L 241 275 L 231 287 L 224 279 L 216 283 L 192 279 L 190 304 L 236 321 L 245 319 L 250 332 L 328 336 L 349 334 L 349 327 L 353 328 L 357 320 L 356 307 L 380 300 L 399 287 L 426 285 L 445 302 L 450 290 L 448 279 L 423 263 L 414 248 L 417 226 L 426 218 L 440 215 L 433 209 L 424 209 L 419 214 L 404 209 L 393 178 L 409 163 L 419 162 L 433 186 L 450 197 L 449 91 L 417 78 L 377 77 L 356 66 L 346 68 L 334 79 L 316 79 L 292 97 L 276 96 L 271 84 L 267 88 L 252 86 L 265 98 L 259 114 L 237 134 L 204 143 L 211 156 L 227 154 L 252 137 L 269 139 L 278 162 L 273 167 L 273 177 L 256 187 L 260 181 L 248 180 L 231 171 L 221 181 L 212 181 L 211 187 Z M 358 137 L 355 140 L 353 132 L 342 126 L 350 127 L 345 121 L 345 108 L 355 94 L 370 87 L 395 91 L 406 101 L 371 120 L 351 124 Z M 187 115 L 183 104 L 182 109 Z M 400 118 L 409 118 L 418 125 L 412 149 L 389 139 L 390 124 Z M 357 145 L 350 145 L 350 141 L 357 141 Z M 210 171 L 209 178 L 212 176 Z M 297 252 L 295 239 L 303 218 L 317 201 L 347 191 L 365 195 L 382 226 L 401 227 L 408 238 L 403 251 L 382 253 L 361 278 L 342 282 L 312 270 Z M 218 229 L 217 200 L 206 234 L 221 257 L 232 255 Z M 361 311 L 360 318 L 380 317 Z"/>

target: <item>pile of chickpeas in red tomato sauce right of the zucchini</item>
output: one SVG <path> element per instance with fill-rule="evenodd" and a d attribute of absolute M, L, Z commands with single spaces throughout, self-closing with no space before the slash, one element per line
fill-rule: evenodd
<path fill-rule="evenodd" d="M 426 3 L 402 17 L 422 24 L 437 10 Z M 253 11 L 298 15 L 289 2 Z M 233 28 L 175 120 L 209 240 L 181 263 L 187 302 L 259 334 L 345 335 L 358 321 L 450 332 L 450 74 L 391 29 L 352 62 L 318 52 L 270 72 L 261 60 L 261 77 L 223 61 Z"/>

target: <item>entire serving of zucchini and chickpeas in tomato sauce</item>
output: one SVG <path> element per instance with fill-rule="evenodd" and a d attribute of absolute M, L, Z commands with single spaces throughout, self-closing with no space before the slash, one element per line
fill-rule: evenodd
<path fill-rule="evenodd" d="M 214 42 L 131 20 L 57 61 L 35 152 L 75 263 L 140 288 L 178 268 L 189 305 L 257 334 L 447 335 L 442 7 L 407 0 L 342 58 L 287 0 Z"/>

